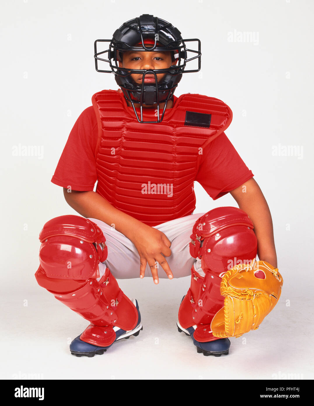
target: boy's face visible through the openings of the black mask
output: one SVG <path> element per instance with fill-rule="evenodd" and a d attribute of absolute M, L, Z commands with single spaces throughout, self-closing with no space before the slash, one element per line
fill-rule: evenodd
<path fill-rule="evenodd" d="M 130 69 L 167 69 L 171 65 L 175 65 L 175 61 L 172 60 L 171 52 L 144 52 L 144 51 L 126 51 L 123 52 L 122 63 L 119 61 L 120 68 Z M 157 73 L 157 80 L 160 82 L 166 73 Z M 132 73 L 132 79 L 137 84 L 142 84 L 142 74 Z M 155 83 L 155 77 L 152 74 L 145 75 L 144 83 Z"/>

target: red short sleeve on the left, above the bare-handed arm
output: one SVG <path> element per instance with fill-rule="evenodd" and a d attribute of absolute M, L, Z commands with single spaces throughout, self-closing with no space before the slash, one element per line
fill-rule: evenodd
<path fill-rule="evenodd" d="M 51 182 L 73 190 L 93 190 L 97 180 L 95 149 L 98 137 L 93 106 L 86 108 L 75 122 L 60 156 Z"/>

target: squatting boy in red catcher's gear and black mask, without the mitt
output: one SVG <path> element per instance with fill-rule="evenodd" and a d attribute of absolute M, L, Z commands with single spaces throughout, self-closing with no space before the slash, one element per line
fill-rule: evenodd
<path fill-rule="evenodd" d="M 178 330 L 198 352 L 220 356 L 229 353 L 227 337 L 237 336 L 226 334 L 224 322 L 212 324 L 224 305 L 222 276 L 237 264 L 227 262 L 253 261 L 257 252 L 273 275 L 278 271 L 267 202 L 224 134 L 230 108 L 203 95 L 173 95 L 187 72 L 187 41 L 144 14 L 115 31 L 108 60 L 95 43 L 96 70 L 98 60 L 109 62 L 121 90 L 96 93 L 70 133 L 51 181 L 85 219 L 60 216 L 44 225 L 36 272 L 41 286 L 91 322 L 70 345 L 77 356 L 102 354 L 142 329 L 137 301 L 115 277 L 135 278 L 139 269 L 158 284 L 159 277 L 191 274 Z M 200 42 L 192 52 L 200 69 Z M 230 192 L 239 209 L 193 214 L 195 180 L 213 199 Z"/>

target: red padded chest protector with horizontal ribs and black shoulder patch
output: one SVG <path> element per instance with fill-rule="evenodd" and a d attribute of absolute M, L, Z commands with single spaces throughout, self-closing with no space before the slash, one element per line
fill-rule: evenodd
<path fill-rule="evenodd" d="M 98 121 L 96 192 L 150 226 L 192 214 L 201 154 L 229 127 L 231 109 L 213 97 L 184 94 L 161 123 L 139 123 L 115 90 L 94 94 L 92 104 Z M 143 120 L 156 120 L 155 110 L 143 108 Z"/>

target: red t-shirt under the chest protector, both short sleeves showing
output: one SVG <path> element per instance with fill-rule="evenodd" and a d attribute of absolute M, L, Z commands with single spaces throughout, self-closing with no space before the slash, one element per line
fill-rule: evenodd
<path fill-rule="evenodd" d="M 173 97 L 175 102 L 177 97 Z M 97 138 L 96 114 L 90 106 L 75 122 L 51 182 L 63 188 L 70 186 L 72 190 L 94 190 Z M 226 134 L 222 133 L 205 148 L 195 180 L 216 200 L 253 176 Z"/>

